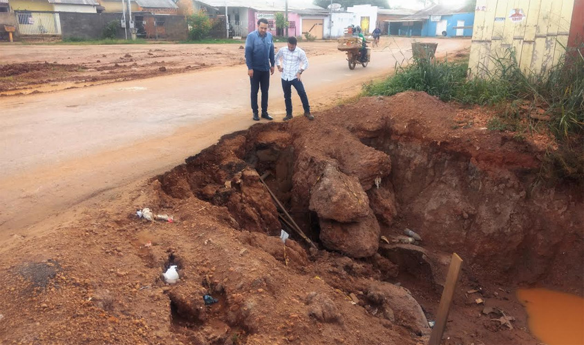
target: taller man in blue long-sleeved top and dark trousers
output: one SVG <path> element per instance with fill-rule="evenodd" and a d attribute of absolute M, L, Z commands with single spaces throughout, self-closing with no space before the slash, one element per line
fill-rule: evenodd
<path fill-rule="evenodd" d="M 258 30 L 250 32 L 245 40 L 245 63 L 247 75 L 252 83 L 252 111 L 254 120 L 258 117 L 258 90 L 261 88 L 261 117 L 272 120 L 267 113 L 267 90 L 270 88 L 270 75 L 274 74 L 274 42 L 267 32 L 267 19 L 258 20 Z"/>

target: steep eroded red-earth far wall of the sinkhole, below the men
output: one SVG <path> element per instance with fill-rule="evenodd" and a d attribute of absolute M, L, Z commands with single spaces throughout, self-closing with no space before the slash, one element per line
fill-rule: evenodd
<path fill-rule="evenodd" d="M 285 209 L 319 249 L 371 263 L 416 297 L 440 297 L 453 252 L 469 282 L 578 285 L 581 188 L 540 183 L 538 148 L 461 128 L 460 111 L 422 92 L 363 99 L 227 135 L 158 181 L 165 197 L 224 206 L 236 230 L 284 229 L 308 252 Z M 405 229 L 422 241 L 399 243 Z M 362 298 L 372 315 L 384 303 Z"/>

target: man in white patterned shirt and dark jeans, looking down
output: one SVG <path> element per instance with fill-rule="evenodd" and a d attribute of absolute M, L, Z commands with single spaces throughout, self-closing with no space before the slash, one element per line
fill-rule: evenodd
<path fill-rule="evenodd" d="M 282 73 L 282 88 L 286 103 L 284 121 L 292 119 L 292 86 L 300 96 L 304 108 L 304 116 L 309 120 L 314 120 L 314 117 L 310 115 L 310 105 L 308 104 L 308 97 L 306 97 L 301 78 L 302 72 L 308 68 L 308 59 L 304 50 L 296 47 L 296 44 L 298 44 L 296 37 L 288 37 L 288 46 L 280 48 L 278 54 L 276 54 L 276 66 Z M 283 60 L 283 63 L 280 60 Z"/>

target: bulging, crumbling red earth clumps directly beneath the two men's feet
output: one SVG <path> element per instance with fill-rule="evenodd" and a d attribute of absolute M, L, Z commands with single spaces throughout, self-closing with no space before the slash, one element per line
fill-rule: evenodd
<path fill-rule="evenodd" d="M 388 155 L 341 126 L 293 121 L 285 130 L 285 124 L 274 124 L 230 135 L 160 177 L 162 189 L 171 197 L 195 195 L 226 206 L 241 228 L 276 235 L 279 215 L 258 176 L 270 172 L 270 185 L 303 228 L 316 215 L 326 248 L 351 257 L 375 254 L 379 224 L 365 192 L 389 174 Z"/>

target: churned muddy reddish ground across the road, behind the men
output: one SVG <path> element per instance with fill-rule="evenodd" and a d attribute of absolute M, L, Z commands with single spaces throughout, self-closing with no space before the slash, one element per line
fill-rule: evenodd
<path fill-rule="evenodd" d="M 284 43 L 276 42 L 276 47 Z M 0 96 L 81 88 L 245 63 L 245 43 L 217 45 L 4 46 Z M 335 43 L 303 43 L 310 56 L 334 53 Z M 26 49 L 26 54 L 20 51 Z M 39 55 L 35 54 L 39 50 Z"/>

